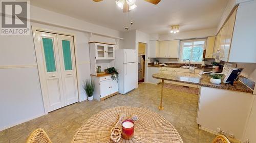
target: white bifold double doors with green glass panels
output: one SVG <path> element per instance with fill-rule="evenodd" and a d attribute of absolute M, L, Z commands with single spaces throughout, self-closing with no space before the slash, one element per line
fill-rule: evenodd
<path fill-rule="evenodd" d="M 65 38 L 70 45 L 67 44 L 67 41 L 63 41 Z M 68 49 L 70 53 L 68 53 Z M 46 111 L 50 112 L 77 102 L 73 37 L 36 32 L 35 51 Z M 67 63 L 72 65 L 71 68 L 68 67 L 72 70 L 65 70 L 65 68 L 67 69 Z"/>

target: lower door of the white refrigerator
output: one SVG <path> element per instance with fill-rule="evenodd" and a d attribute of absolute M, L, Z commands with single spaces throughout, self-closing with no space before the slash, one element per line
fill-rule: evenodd
<path fill-rule="evenodd" d="M 136 63 L 124 64 L 124 93 L 130 92 L 137 87 Z"/>

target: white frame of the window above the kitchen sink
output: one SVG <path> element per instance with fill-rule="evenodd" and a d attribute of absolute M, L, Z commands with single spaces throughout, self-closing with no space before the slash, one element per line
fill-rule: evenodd
<path fill-rule="evenodd" d="M 181 40 L 180 41 L 180 63 L 183 63 L 183 64 L 187 64 L 188 61 L 183 61 L 183 43 L 185 42 L 195 42 L 195 41 L 204 41 L 204 47 L 203 47 L 203 50 L 206 48 L 206 42 L 207 42 L 207 39 L 206 38 L 202 38 L 202 39 L 193 39 L 193 40 Z M 194 43 L 193 45 L 194 46 Z M 203 56 L 203 55 L 202 55 Z M 191 61 L 190 64 L 202 64 L 202 61 L 201 62 L 193 62 Z"/>

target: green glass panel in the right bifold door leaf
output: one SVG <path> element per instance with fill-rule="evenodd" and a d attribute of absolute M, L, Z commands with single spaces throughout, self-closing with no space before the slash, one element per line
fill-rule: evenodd
<path fill-rule="evenodd" d="M 72 70 L 72 57 L 70 49 L 70 41 L 62 40 L 63 60 L 65 70 Z"/>

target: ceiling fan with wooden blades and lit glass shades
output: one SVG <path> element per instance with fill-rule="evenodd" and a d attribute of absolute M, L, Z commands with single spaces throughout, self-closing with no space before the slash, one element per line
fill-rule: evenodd
<path fill-rule="evenodd" d="M 103 0 L 93 0 L 94 2 L 101 2 Z M 120 1 L 120 0 L 119 0 Z M 118 3 L 120 2 L 116 2 L 117 5 Z M 151 4 L 154 4 L 154 5 L 157 5 L 161 0 L 144 0 L 148 3 L 151 3 Z M 134 0 L 121 0 L 121 5 L 119 7 L 121 7 L 123 9 L 123 12 L 129 12 L 130 10 L 136 8 L 137 6 L 134 4 L 135 1 Z M 133 3 L 133 5 L 130 5 L 129 3 Z"/>

